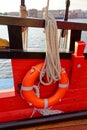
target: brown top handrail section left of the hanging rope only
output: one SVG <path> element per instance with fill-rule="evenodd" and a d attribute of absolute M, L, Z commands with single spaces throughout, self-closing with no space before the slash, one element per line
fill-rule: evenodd
<path fill-rule="evenodd" d="M 0 16 L 0 24 L 14 26 L 44 27 L 45 21 L 34 18 Z"/>

